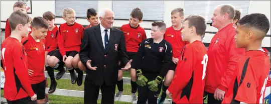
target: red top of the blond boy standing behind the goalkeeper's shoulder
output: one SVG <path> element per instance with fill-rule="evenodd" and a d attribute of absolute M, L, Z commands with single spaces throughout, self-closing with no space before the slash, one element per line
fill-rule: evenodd
<path fill-rule="evenodd" d="M 181 34 L 182 29 L 174 30 L 173 26 L 167 28 L 164 39 L 172 46 L 173 57 L 180 58 L 183 47 L 188 44 L 184 42 Z"/>

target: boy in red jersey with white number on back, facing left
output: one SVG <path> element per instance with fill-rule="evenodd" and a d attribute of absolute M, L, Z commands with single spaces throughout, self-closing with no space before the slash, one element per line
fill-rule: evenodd
<path fill-rule="evenodd" d="M 184 46 L 174 79 L 167 90 L 174 103 L 203 103 L 208 56 L 201 35 L 205 30 L 206 22 L 201 16 L 192 15 L 184 20 L 182 39 L 190 44 Z"/>

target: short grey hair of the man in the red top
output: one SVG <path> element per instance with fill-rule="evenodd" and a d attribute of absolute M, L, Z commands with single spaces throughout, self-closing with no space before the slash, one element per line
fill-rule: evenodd
<path fill-rule="evenodd" d="M 231 19 L 231 20 L 234 18 L 234 16 L 235 16 L 235 8 L 232 5 L 230 5 L 230 4 L 222 4 L 222 5 L 219 5 L 217 7 L 221 7 L 220 8 L 220 13 L 221 14 L 225 14 L 225 13 L 229 14 L 229 19 Z"/>

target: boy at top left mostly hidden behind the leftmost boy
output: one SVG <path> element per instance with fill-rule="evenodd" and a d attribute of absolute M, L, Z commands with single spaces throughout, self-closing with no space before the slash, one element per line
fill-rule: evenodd
<path fill-rule="evenodd" d="M 23 12 L 27 12 L 26 4 L 24 2 L 18 1 L 13 5 L 13 11 L 21 10 Z M 8 38 L 11 35 L 11 27 L 9 24 L 9 19 L 7 19 L 6 22 L 6 28 L 5 28 L 5 39 Z"/>

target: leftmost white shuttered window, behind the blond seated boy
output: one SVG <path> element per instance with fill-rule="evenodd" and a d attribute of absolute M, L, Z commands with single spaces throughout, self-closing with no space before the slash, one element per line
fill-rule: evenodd
<path fill-rule="evenodd" d="M 55 6 L 56 16 L 62 17 L 65 8 L 72 8 L 76 17 L 86 18 L 87 9 L 98 9 L 98 1 L 55 1 Z"/>

